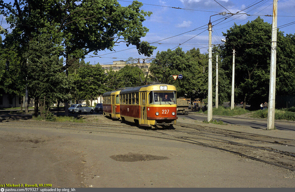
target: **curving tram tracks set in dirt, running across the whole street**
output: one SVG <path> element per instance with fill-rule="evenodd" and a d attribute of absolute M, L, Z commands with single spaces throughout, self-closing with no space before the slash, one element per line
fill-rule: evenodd
<path fill-rule="evenodd" d="M 9 124 L 9 125 L 8 125 Z M 10 122 L 1 123 L 1 125 L 8 127 L 20 126 L 32 127 L 32 128 L 54 128 L 54 129 L 66 129 L 76 131 L 90 131 L 90 132 L 108 132 L 108 133 L 120 133 L 130 134 L 138 136 L 148 136 L 154 138 L 162 138 L 168 140 L 181 141 L 190 144 L 197 144 L 204 147 L 216 148 L 218 150 L 230 152 L 239 156 L 243 156 L 249 159 L 257 160 L 260 162 L 275 165 L 295 171 L 295 154 L 290 152 L 277 151 L 272 148 L 259 147 L 250 144 L 240 143 L 234 141 L 235 139 L 242 139 L 247 141 L 266 142 L 269 144 L 295 146 L 295 140 L 270 137 L 265 135 L 258 135 L 246 132 L 230 131 L 218 128 L 206 128 L 203 126 L 191 125 L 191 124 L 179 124 L 183 130 L 160 130 L 160 129 L 138 129 L 131 125 L 117 125 L 98 123 L 95 125 L 81 124 L 73 122 Z M 34 126 L 32 126 L 34 125 Z M 59 126 L 59 127 L 57 127 Z M 97 130 L 99 129 L 99 130 Z M 195 132 L 198 131 L 198 132 Z M 210 136 L 209 136 L 210 135 Z M 224 139 L 224 137 L 226 139 Z M 229 140 L 228 138 L 231 138 Z"/>

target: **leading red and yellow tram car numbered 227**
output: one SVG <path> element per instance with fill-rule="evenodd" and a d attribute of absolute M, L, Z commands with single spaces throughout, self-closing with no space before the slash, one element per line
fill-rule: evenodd
<path fill-rule="evenodd" d="M 120 118 L 140 126 L 168 127 L 176 124 L 176 88 L 149 84 L 120 91 Z"/>

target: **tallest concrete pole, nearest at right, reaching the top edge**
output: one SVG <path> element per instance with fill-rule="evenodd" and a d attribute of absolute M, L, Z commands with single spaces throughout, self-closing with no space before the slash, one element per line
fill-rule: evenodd
<path fill-rule="evenodd" d="M 271 31 L 269 104 L 267 129 L 274 129 L 274 109 L 276 97 L 276 64 L 277 64 L 277 1 L 273 0 L 273 25 Z"/>

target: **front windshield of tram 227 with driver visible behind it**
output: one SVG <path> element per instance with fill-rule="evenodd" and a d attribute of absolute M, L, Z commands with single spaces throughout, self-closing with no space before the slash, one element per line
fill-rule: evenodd
<path fill-rule="evenodd" d="M 176 104 L 175 91 L 151 91 L 148 94 L 148 103 L 155 105 Z"/>

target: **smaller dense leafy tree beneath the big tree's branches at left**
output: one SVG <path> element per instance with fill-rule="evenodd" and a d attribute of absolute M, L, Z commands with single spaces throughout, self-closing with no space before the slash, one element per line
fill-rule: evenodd
<path fill-rule="evenodd" d="M 59 60 L 62 47 L 54 44 L 50 36 L 38 36 L 29 42 L 25 57 L 27 87 L 31 97 L 35 98 L 35 112 L 38 111 L 37 101 L 40 104 L 40 113 L 44 117 L 46 108 L 57 99 L 69 99 L 69 90 L 72 89 L 72 80 L 65 73 L 60 73 L 63 63 Z M 35 113 L 36 115 L 36 113 Z"/>

